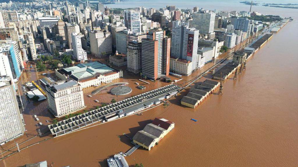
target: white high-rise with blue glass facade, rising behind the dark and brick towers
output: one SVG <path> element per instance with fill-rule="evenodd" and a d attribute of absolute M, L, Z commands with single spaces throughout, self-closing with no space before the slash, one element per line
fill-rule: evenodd
<path fill-rule="evenodd" d="M 135 10 L 125 10 L 124 11 L 124 22 L 125 27 L 133 32 L 139 33 L 141 32 L 141 19 L 140 12 Z"/>

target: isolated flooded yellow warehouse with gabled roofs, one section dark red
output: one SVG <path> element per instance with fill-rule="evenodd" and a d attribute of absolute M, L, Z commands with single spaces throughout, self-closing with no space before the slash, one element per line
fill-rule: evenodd
<path fill-rule="evenodd" d="M 152 123 L 147 124 L 143 130 L 140 130 L 133 137 L 133 142 L 150 150 L 158 144 L 173 128 L 175 123 L 167 119 L 157 117 Z"/>

